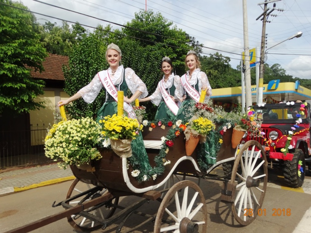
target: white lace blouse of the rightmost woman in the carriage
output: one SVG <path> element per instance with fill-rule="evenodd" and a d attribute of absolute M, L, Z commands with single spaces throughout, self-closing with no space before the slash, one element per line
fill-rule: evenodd
<path fill-rule="evenodd" d="M 208 81 L 207 75 L 201 71 L 199 68 L 195 69 L 190 77 L 189 71 L 186 73 L 187 81 L 190 85 L 195 85 L 198 80 L 198 87 L 199 87 L 199 94 L 201 95 L 201 90 L 206 89 L 206 97 L 208 99 L 212 95 L 212 88 L 210 82 Z M 176 97 L 181 100 L 185 94 L 185 90 L 183 89 L 183 85 L 181 84 L 180 79 L 177 81 L 175 95 Z"/>

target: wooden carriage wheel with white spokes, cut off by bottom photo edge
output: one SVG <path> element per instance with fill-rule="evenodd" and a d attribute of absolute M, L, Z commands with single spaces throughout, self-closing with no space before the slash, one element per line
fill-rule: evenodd
<path fill-rule="evenodd" d="M 174 202 L 170 204 L 173 197 Z M 190 180 L 173 185 L 160 204 L 153 232 L 197 233 L 206 230 L 207 208 L 200 187 Z"/>

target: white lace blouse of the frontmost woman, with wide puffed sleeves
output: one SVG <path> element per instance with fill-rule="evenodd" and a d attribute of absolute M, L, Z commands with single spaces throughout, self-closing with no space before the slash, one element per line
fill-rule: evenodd
<path fill-rule="evenodd" d="M 114 85 L 121 83 L 122 70 L 123 66 L 119 66 L 114 75 L 112 75 L 111 69 L 108 68 L 108 74 Z M 134 94 L 137 90 L 142 92 L 139 98 L 144 98 L 148 95 L 146 85 L 131 68 L 125 68 L 125 82 L 132 94 Z M 92 103 L 103 87 L 104 86 L 101 83 L 98 74 L 96 74 L 92 81 L 85 87 L 81 88 L 78 93 L 82 95 L 82 98 L 86 103 Z"/>

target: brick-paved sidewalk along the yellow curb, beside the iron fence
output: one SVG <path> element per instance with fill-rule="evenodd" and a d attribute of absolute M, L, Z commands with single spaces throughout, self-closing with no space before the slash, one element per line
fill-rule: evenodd
<path fill-rule="evenodd" d="M 14 168 L 7 171 L 0 170 L 0 195 L 10 193 L 12 190 L 16 191 L 16 189 L 22 190 L 24 187 L 30 187 L 31 185 L 38 187 L 44 184 L 70 180 L 74 178 L 72 176 L 70 168 L 66 170 L 60 169 L 57 163 L 36 167 Z"/>

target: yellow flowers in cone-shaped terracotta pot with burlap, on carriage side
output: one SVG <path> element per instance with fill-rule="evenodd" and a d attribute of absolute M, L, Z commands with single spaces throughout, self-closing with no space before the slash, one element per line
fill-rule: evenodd
<path fill-rule="evenodd" d="M 207 118 L 193 117 L 184 131 L 186 136 L 186 154 L 188 156 L 191 155 L 199 141 L 205 142 L 208 133 L 214 129 L 215 125 Z"/>

